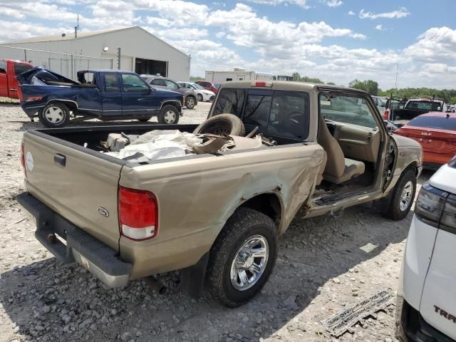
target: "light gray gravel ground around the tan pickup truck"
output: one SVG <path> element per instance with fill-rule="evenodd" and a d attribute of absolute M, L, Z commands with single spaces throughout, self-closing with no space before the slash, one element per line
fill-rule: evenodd
<path fill-rule="evenodd" d="M 181 123 L 202 122 L 209 106 L 185 110 Z M 190 299 L 180 291 L 177 272 L 160 275 L 168 286 L 163 295 L 141 280 L 107 289 L 34 239 L 14 197 L 23 189 L 22 134 L 41 125 L 18 105 L 0 104 L 0 118 L 0 341 L 394 340 L 394 306 L 339 338 L 319 321 L 377 291 L 395 291 L 411 214 L 393 222 L 362 206 L 338 219 L 296 219 L 279 240 L 268 283 L 237 309 L 222 308 L 206 293 Z M 429 177 L 425 173 L 420 184 Z M 377 246 L 370 253 L 360 249 L 368 243 Z"/>

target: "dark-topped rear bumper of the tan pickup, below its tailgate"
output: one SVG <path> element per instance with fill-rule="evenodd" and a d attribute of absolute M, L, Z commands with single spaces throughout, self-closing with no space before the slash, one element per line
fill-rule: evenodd
<path fill-rule="evenodd" d="M 64 263 L 81 264 L 107 286 L 127 285 L 133 266 L 118 259 L 114 249 L 68 222 L 27 192 L 18 195 L 16 200 L 35 219 L 36 239 L 56 258 Z"/>

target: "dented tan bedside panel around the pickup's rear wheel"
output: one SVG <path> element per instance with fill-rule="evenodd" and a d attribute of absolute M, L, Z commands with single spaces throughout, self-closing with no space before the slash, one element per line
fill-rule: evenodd
<path fill-rule="evenodd" d="M 279 198 L 284 232 L 309 197 L 322 160 L 319 145 L 291 145 L 124 167 L 120 185 L 152 191 L 159 207 L 157 237 L 120 238 L 120 256 L 133 263 L 132 278 L 195 264 L 234 210 L 261 193 Z"/>

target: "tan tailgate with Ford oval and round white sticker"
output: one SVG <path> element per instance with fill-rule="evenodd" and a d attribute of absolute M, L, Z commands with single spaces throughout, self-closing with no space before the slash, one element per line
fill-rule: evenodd
<path fill-rule="evenodd" d="M 118 251 L 122 161 L 36 131 L 24 135 L 26 187 L 69 222 Z"/>

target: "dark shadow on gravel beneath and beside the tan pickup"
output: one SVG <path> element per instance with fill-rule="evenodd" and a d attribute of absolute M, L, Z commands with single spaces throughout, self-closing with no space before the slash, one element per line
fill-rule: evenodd
<path fill-rule="evenodd" d="M 0 302 L 18 333 L 41 336 L 41 341 L 259 341 L 280 335 L 286 323 L 286 333 L 309 333 L 315 322 L 330 316 L 328 307 L 304 320 L 294 318 L 316 305 L 312 301 L 320 287 L 348 271 L 356 274 L 363 261 L 402 242 L 412 214 L 394 222 L 361 206 L 346 209 L 339 219 L 296 219 L 279 240 L 279 257 L 266 286 L 237 309 L 222 308 L 207 293 L 199 301 L 190 299 L 180 291 L 177 272 L 160 275 L 168 291 L 158 295 L 144 281 L 106 289 L 81 266 L 54 258 L 1 274 Z M 370 253 L 360 249 L 368 243 L 377 246 Z M 376 263 L 379 273 L 388 274 L 381 261 Z M 382 279 L 375 281 L 372 292 L 383 289 Z M 349 298 L 352 303 L 359 299 Z M 340 307 L 340 301 L 331 305 Z M 4 337 L 14 338 L 13 331 Z"/>

